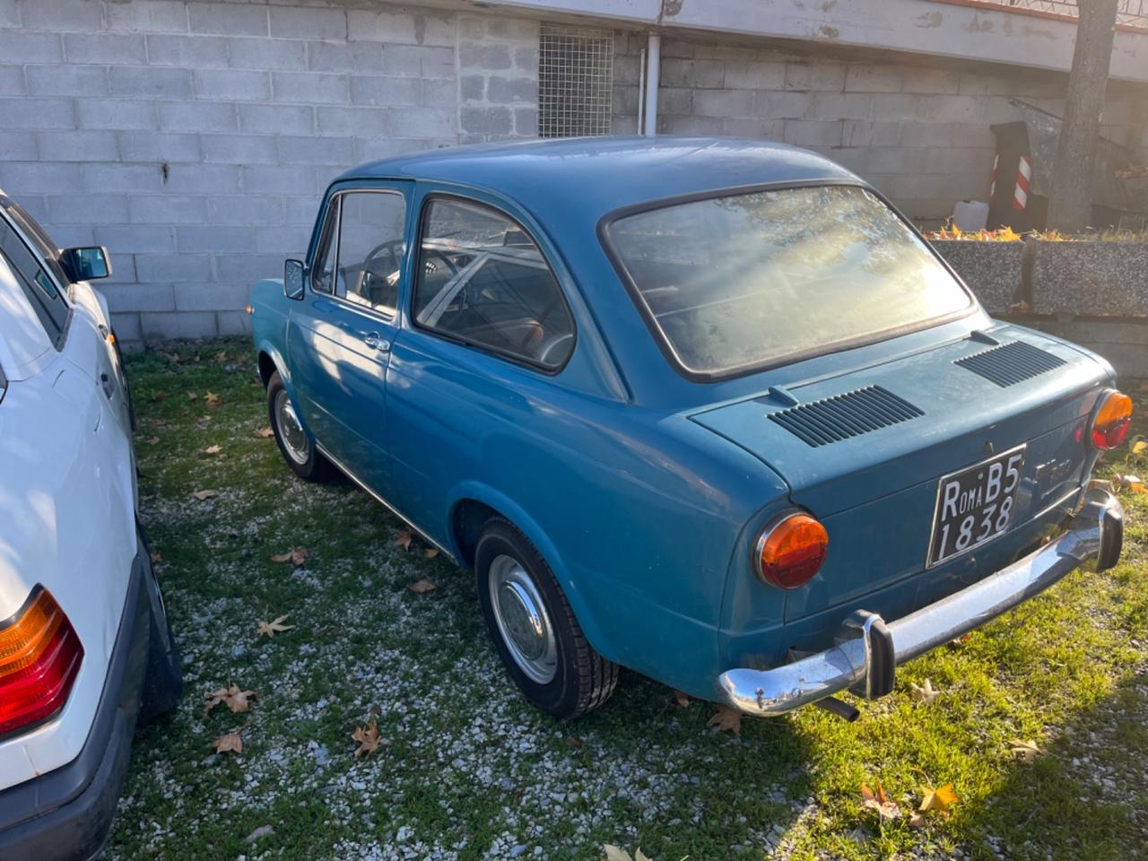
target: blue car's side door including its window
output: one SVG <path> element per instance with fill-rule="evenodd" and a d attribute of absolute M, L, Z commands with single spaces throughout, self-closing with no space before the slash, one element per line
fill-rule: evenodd
<path fill-rule="evenodd" d="M 319 445 L 375 492 L 383 453 L 386 370 L 397 327 L 410 183 L 343 188 L 324 216 L 287 350 L 304 419 Z"/>

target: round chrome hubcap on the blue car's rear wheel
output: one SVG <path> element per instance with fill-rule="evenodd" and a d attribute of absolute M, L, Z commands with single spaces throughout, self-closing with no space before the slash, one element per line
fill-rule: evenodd
<path fill-rule="evenodd" d="M 521 563 L 495 557 L 488 577 L 498 634 L 519 668 L 538 684 L 558 672 L 558 645 L 538 588 Z"/>

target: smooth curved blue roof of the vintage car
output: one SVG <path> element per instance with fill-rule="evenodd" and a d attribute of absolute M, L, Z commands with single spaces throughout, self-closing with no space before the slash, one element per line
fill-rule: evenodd
<path fill-rule="evenodd" d="M 595 222 L 653 200 L 769 183 L 862 180 L 829 158 L 784 144 L 675 135 L 480 144 L 367 162 L 336 179 L 422 179 L 511 197 L 544 215 Z"/>

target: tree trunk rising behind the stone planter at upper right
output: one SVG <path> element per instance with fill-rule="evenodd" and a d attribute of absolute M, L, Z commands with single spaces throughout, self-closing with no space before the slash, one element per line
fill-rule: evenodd
<path fill-rule="evenodd" d="M 1080 0 L 1064 121 L 1053 164 L 1048 227 L 1078 233 L 1092 218 L 1092 185 L 1100 115 L 1104 110 L 1119 0 Z"/>

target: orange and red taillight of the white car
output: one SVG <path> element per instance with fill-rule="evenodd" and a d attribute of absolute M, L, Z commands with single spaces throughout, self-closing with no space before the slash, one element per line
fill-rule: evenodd
<path fill-rule="evenodd" d="M 0 622 L 0 736 L 55 714 L 68 700 L 84 647 L 44 587 Z"/>

